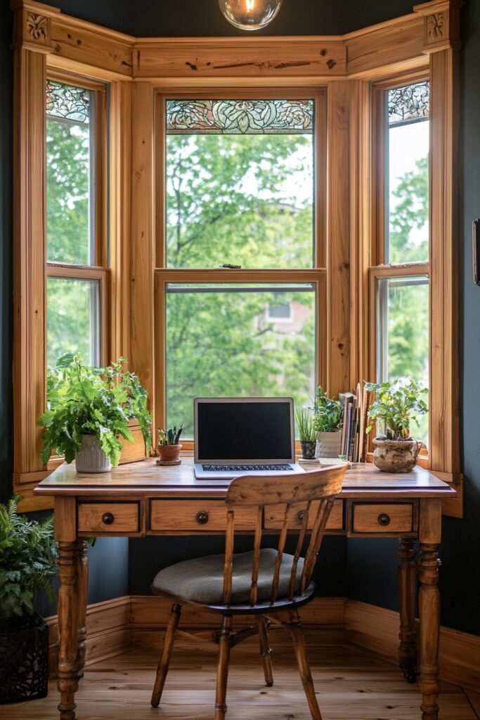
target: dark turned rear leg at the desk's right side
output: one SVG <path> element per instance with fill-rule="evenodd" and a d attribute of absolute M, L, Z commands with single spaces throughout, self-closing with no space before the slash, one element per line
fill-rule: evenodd
<path fill-rule="evenodd" d="M 417 566 L 415 538 L 401 538 L 399 545 L 400 647 L 399 665 L 407 683 L 417 679 L 417 636 L 415 633 L 415 601 L 417 598 Z"/>

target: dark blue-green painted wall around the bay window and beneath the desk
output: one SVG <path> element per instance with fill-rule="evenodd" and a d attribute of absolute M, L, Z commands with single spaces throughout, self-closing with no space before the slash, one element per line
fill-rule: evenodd
<path fill-rule="evenodd" d="M 217 0 L 58 0 L 63 12 L 134 36 L 242 35 L 219 13 Z M 412 1 L 284 0 L 265 35 L 335 35 L 383 22 L 412 11 Z M 12 467 L 12 61 L 8 1 L 0 0 L 0 495 L 11 490 Z M 480 634 L 480 288 L 471 280 L 471 220 L 480 215 L 480 2 L 466 0 L 462 22 L 461 66 L 461 392 L 462 462 L 466 474 L 465 518 L 445 518 L 440 573 L 443 624 Z M 125 591 L 126 543 L 96 543 L 91 551 L 91 598 Z M 217 552 L 219 541 L 196 540 L 196 552 Z M 114 562 L 105 562 L 112 549 Z M 396 541 L 327 538 L 322 558 L 322 594 L 344 595 L 389 608 L 397 607 Z M 130 541 L 130 587 L 145 593 L 154 572 L 191 553 L 189 539 Z M 469 562 L 470 558 L 473 562 Z M 348 572 L 345 564 L 348 562 Z M 108 574 L 104 570 L 108 567 Z M 94 599 L 92 599 L 94 598 Z"/>

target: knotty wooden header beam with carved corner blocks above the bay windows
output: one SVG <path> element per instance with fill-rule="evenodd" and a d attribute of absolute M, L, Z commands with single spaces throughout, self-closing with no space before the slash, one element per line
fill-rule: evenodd
<path fill-rule="evenodd" d="M 12 0 L 14 48 L 48 55 L 50 66 L 104 71 L 105 79 L 235 83 L 245 78 L 325 83 L 415 69 L 424 53 L 457 48 L 461 0 L 433 0 L 414 12 L 348 35 L 135 38 L 33 0 Z"/>

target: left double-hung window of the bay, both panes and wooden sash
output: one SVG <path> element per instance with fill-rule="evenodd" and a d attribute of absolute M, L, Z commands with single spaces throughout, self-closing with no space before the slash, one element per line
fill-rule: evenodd
<path fill-rule="evenodd" d="M 46 94 L 47 365 L 66 352 L 105 356 L 105 89 L 48 78 Z"/>

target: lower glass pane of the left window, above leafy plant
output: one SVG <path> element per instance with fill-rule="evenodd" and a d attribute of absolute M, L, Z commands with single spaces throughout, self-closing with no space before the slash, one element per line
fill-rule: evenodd
<path fill-rule="evenodd" d="M 47 278 L 47 364 L 66 352 L 100 365 L 100 281 Z"/>

